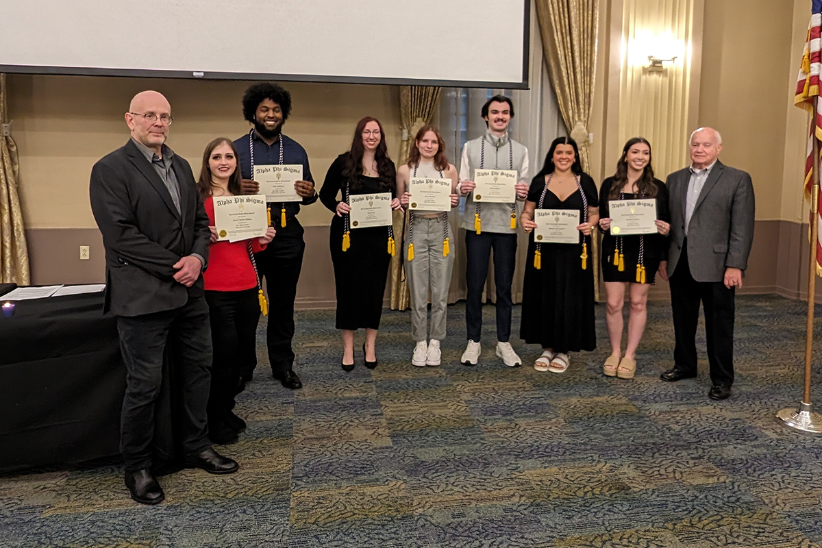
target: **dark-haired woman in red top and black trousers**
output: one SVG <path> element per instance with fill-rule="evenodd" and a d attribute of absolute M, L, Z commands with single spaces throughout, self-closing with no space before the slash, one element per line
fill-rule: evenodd
<path fill-rule="evenodd" d="M 275 235 L 274 227 L 269 227 L 264 237 L 240 242 L 217 241 L 213 198 L 241 194 L 240 180 L 237 150 L 231 140 L 224 137 L 212 140 L 205 147 L 197 188 L 211 224 L 208 269 L 203 279 L 214 346 L 207 411 L 209 437 L 215 444 L 233 443 L 246 429 L 245 421 L 233 413 L 233 408 L 241 368 L 256 366 L 260 301 L 251 253 L 265 249 Z"/>

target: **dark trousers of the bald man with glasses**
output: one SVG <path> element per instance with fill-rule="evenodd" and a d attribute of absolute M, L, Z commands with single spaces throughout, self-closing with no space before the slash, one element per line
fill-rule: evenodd
<path fill-rule="evenodd" d="M 171 311 L 117 319 L 126 394 L 120 416 L 120 451 L 126 470 L 152 465 L 155 404 L 162 385 L 163 359 L 169 349 L 171 371 L 180 387 L 179 436 L 186 456 L 208 449 L 205 405 L 211 383 L 211 329 L 203 297 L 189 297 Z"/>

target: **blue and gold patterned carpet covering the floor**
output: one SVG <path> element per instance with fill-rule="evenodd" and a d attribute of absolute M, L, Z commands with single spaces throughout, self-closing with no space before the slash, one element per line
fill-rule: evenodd
<path fill-rule="evenodd" d="M 706 396 L 702 351 L 696 380 L 658 380 L 672 366 L 664 302 L 649 306 L 635 380 L 604 377 L 598 307 L 599 349 L 563 375 L 534 371 L 538 349 L 517 338 L 528 365 L 503 366 L 493 306 L 477 367 L 458 363 L 459 304 L 446 365 L 411 366 L 409 314 L 386 312 L 380 366 L 358 351 L 351 373 L 333 312 L 302 312 L 305 388 L 281 388 L 261 359 L 238 404 L 248 431 L 224 448 L 238 473 L 164 477 L 157 507 L 128 498 L 116 463 L 0 477 L 0 546 L 822 546 L 822 436 L 774 418 L 801 397 L 805 305 L 737 298 L 723 403 Z"/>

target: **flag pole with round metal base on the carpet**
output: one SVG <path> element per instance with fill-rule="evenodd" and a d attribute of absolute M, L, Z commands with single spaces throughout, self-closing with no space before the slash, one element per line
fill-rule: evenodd
<path fill-rule="evenodd" d="M 820 196 L 820 141 L 816 138 L 816 117 L 820 112 L 819 96 L 814 98 L 811 117 L 811 143 L 813 170 L 810 187 L 810 266 L 808 270 L 808 311 L 805 332 L 805 390 L 799 408 L 784 408 L 776 414 L 780 421 L 797 430 L 822 434 L 822 416 L 814 412 L 810 403 L 810 366 L 814 347 L 814 306 L 816 302 L 816 246 L 819 240 L 819 196 Z"/>

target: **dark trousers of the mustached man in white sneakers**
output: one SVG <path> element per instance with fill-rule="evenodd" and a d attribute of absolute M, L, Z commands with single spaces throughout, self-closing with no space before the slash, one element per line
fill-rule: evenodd
<path fill-rule="evenodd" d="M 516 266 L 516 234 L 465 231 L 465 324 L 469 340 L 479 342 L 483 330 L 483 288 L 488 277 L 488 260 L 494 250 L 496 284 L 496 340 L 507 343 L 511 335 L 511 283 Z"/>

